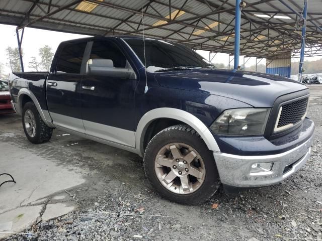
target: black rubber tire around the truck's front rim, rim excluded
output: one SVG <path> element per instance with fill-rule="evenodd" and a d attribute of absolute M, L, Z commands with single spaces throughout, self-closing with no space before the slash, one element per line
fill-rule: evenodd
<path fill-rule="evenodd" d="M 168 190 L 155 173 L 155 157 L 159 150 L 170 143 L 183 143 L 195 149 L 203 159 L 206 174 L 201 186 L 189 194 L 178 194 Z M 195 205 L 208 200 L 220 186 L 219 174 L 212 152 L 199 134 L 187 125 L 176 125 L 160 131 L 148 143 L 144 153 L 144 171 L 153 188 L 170 201 Z"/>

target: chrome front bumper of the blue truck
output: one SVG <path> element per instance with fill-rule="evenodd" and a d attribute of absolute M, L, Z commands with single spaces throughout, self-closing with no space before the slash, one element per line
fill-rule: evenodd
<path fill-rule="evenodd" d="M 300 169 L 310 157 L 312 136 L 284 153 L 263 156 L 238 156 L 213 152 L 221 183 L 231 187 L 252 188 L 276 184 Z M 265 172 L 252 172 L 256 163 L 272 163 Z"/>

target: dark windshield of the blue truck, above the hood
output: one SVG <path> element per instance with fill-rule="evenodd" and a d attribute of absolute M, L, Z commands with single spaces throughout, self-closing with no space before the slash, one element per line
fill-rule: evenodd
<path fill-rule="evenodd" d="M 143 39 L 124 39 L 144 64 Z M 208 60 L 181 44 L 163 40 L 145 39 L 146 67 L 205 67 L 213 66 Z"/>

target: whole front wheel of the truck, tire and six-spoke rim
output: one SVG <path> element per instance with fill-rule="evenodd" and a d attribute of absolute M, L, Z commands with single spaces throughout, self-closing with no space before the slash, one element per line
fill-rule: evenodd
<path fill-rule="evenodd" d="M 144 170 L 160 195 L 178 203 L 204 202 L 219 187 L 211 151 L 187 125 L 169 127 L 152 138 L 144 153 Z"/>

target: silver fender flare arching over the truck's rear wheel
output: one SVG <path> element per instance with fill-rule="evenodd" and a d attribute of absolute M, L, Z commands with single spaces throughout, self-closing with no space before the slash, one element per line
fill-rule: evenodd
<path fill-rule="evenodd" d="M 44 110 L 40 107 L 40 104 L 36 98 L 36 96 L 33 94 L 33 92 L 31 92 L 29 89 L 27 88 L 21 88 L 18 92 L 17 95 L 17 99 L 18 99 L 18 106 L 16 106 L 17 112 L 19 114 L 22 114 L 22 97 L 23 95 L 28 95 L 31 100 L 34 102 L 34 104 L 36 105 L 36 108 L 42 118 L 42 120 L 44 121 L 44 123 L 51 128 L 54 128 L 54 126 L 52 125 L 52 119 L 49 115 L 49 111 L 48 110 Z M 18 107 L 18 108 L 17 108 Z"/>

